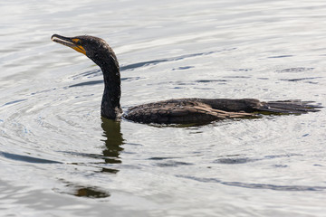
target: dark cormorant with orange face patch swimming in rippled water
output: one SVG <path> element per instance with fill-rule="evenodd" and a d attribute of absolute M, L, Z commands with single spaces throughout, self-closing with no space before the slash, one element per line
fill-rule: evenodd
<path fill-rule="evenodd" d="M 118 120 L 125 118 L 140 123 L 194 124 L 225 118 L 256 118 L 258 114 L 302 114 L 318 111 L 312 101 L 258 99 L 168 99 L 129 108 L 123 114 L 120 107 L 120 66 L 118 59 L 103 39 L 82 35 L 64 37 L 53 34 L 53 42 L 82 52 L 94 61 L 103 73 L 104 92 L 101 116 Z"/>

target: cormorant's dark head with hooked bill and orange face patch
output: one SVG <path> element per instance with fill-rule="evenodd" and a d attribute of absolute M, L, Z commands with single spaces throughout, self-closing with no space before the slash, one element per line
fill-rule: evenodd
<path fill-rule="evenodd" d="M 53 42 L 61 43 L 77 52 L 82 52 L 82 54 L 85 54 L 100 67 L 110 59 L 118 63 L 117 57 L 109 44 L 101 38 L 90 35 L 64 37 L 59 34 L 53 34 L 51 39 Z"/>

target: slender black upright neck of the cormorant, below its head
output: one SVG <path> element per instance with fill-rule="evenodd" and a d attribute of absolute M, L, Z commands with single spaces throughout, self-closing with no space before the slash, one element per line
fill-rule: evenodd
<path fill-rule="evenodd" d="M 104 78 L 104 92 L 101 101 L 101 116 L 109 119 L 121 117 L 120 108 L 120 68 L 115 56 L 106 58 L 99 64 Z"/>

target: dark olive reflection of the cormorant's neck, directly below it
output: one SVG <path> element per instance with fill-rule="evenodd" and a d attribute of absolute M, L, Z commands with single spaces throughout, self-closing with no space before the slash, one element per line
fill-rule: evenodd
<path fill-rule="evenodd" d="M 106 118 L 101 118 L 101 127 L 103 129 L 103 141 L 105 142 L 105 149 L 103 156 L 106 164 L 121 164 L 120 152 L 123 150 L 121 147 L 124 144 L 124 139 L 120 131 L 120 122 Z M 102 172 L 118 173 L 119 170 L 111 168 L 103 168 Z"/>

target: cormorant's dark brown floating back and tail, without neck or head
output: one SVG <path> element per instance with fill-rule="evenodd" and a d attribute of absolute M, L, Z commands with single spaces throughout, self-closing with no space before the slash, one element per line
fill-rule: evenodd
<path fill-rule="evenodd" d="M 123 117 L 141 123 L 206 123 L 225 118 L 257 118 L 260 113 L 302 114 L 316 111 L 308 103 L 301 100 L 169 99 L 130 108 Z"/>

